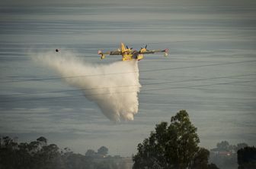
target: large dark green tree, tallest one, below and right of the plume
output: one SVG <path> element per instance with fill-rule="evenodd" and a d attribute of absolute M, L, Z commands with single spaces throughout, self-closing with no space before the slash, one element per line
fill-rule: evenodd
<path fill-rule="evenodd" d="M 187 111 L 179 111 L 167 122 L 157 124 L 155 132 L 139 143 L 133 156 L 133 168 L 200 168 L 206 166 L 209 151 L 200 149 L 197 128 L 191 124 Z"/>

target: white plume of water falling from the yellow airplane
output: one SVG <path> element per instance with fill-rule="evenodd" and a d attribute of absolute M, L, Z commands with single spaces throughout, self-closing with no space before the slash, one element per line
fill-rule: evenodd
<path fill-rule="evenodd" d="M 138 113 L 141 85 L 137 61 L 91 64 L 72 52 L 41 52 L 33 58 L 55 70 L 70 86 L 81 89 L 110 120 L 133 120 Z"/>

